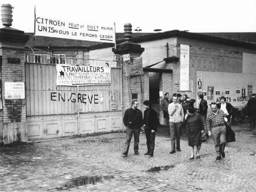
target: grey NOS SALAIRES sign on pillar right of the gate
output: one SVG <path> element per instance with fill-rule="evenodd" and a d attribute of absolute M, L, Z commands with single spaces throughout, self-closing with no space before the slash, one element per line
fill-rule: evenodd
<path fill-rule="evenodd" d="M 137 76 L 143 74 L 142 57 L 132 58 L 125 61 L 126 76 Z"/>

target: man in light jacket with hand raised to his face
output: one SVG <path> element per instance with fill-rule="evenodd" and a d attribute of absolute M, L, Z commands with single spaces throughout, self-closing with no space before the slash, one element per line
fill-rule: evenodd
<path fill-rule="evenodd" d="M 172 96 L 172 103 L 168 106 L 169 123 L 170 123 L 170 135 L 171 135 L 171 154 L 175 153 L 175 141 L 177 151 L 180 149 L 180 132 L 182 127 L 182 121 L 184 118 L 184 112 L 181 104 L 178 103 L 177 95 Z"/>

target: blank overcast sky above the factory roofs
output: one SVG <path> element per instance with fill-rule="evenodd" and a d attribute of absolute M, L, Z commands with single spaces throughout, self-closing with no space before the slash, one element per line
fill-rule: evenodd
<path fill-rule="evenodd" d="M 59 20 L 131 23 L 141 32 L 256 32 L 256 0 L 0 0 L 14 6 L 12 28 L 34 31 L 36 13 Z M 2 24 L 2 23 L 1 23 Z M 3 25 L 1 25 L 1 28 Z M 134 31 L 135 32 L 135 31 Z"/>

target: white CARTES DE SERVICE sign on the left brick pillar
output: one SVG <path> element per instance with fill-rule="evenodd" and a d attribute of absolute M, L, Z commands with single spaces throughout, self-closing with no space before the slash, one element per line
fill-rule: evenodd
<path fill-rule="evenodd" d="M 25 99 L 24 82 L 4 82 L 5 99 Z"/>

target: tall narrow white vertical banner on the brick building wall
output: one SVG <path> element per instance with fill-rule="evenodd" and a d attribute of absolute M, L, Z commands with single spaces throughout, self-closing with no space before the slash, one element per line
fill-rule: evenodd
<path fill-rule="evenodd" d="M 180 90 L 189 90 L 189 45 L 180 45 Z"/>

